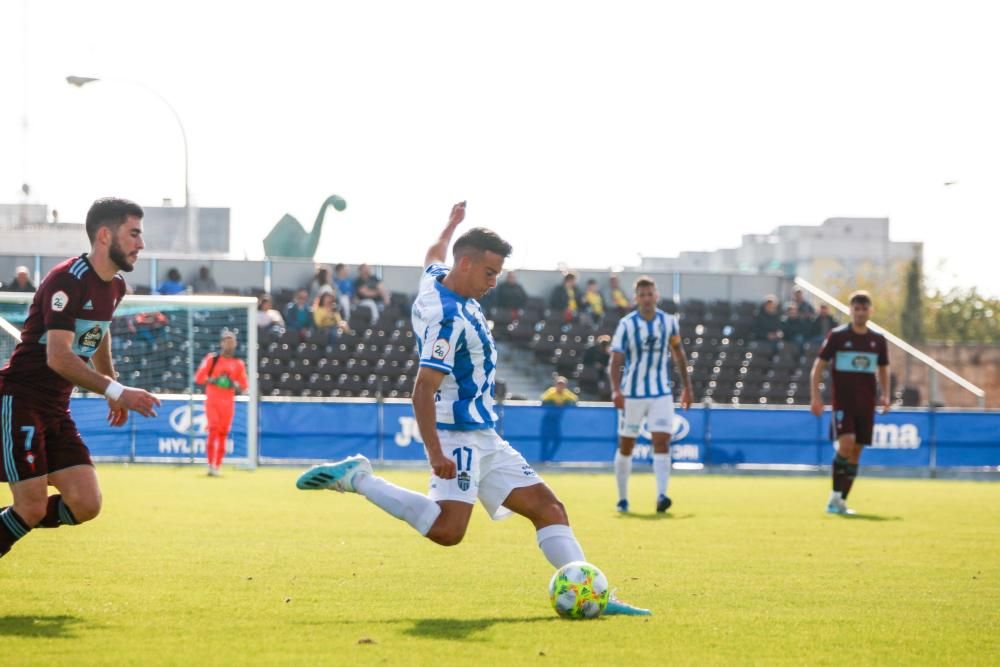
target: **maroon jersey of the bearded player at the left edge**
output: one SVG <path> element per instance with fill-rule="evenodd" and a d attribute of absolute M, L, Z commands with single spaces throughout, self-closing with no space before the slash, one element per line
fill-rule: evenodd
<path fill-rule="evenodd" d="M 88 361 L 108 335 L 111 317 L 123 296 L 125 279 L 115 274 L 110 282 L 103 281 L 86 253 L 49 271 L 31 302 L 21 342 L 0 369 L 4 393 L 68 408 L 73 383 L 49 368 L 45 348 L 48 331 L 72 331 L 73 351 Z"/>

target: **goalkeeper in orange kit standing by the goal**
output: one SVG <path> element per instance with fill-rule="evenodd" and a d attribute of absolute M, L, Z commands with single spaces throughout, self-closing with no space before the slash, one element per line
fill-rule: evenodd
<path fill-rule="evenodd" d="M 205 355 L 198 372 L 196 384 L 205 385 L 205 417 L 208 420 L 208 440 L 205 454 L 208 456 L 208 474 L 216 477 L 226 455 L 226 438 L 233 423 L 236 392 L 247 389 L 247 367 L 242 359 L 236 358 L 236 335 L 223 330 L 219 340 L 219 352 Z"/>

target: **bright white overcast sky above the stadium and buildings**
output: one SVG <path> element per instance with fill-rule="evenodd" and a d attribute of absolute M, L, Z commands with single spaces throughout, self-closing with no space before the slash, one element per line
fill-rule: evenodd
<path fill-rule="evenodd" d="M 460 199 L 514 267 L 888 215 L 935 284 L 1000 294 L 992 4 L 5 0 L 0 201 L 181 204 L 153 90 L 251 257 L 329 194 L 317 257 L 352 263 L 418 263 Z"/>

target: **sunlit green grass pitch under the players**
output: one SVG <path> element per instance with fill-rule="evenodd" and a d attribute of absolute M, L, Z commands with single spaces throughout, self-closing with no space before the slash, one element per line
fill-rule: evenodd
<path fill-rule="evenodd" d="M 0 559 L 0 664 L 997 664 L 1000 484 L 674 474 L 653 512 L 549 473 L 588 560 L 651 618 L 559 619 L 520 518 L 443 548 L 298 470 L 102 465 L 104 512 Z M 384 475 L 424 490 L 426 475 Z M 6 487 L 0 504 L 9 502 Z"/>

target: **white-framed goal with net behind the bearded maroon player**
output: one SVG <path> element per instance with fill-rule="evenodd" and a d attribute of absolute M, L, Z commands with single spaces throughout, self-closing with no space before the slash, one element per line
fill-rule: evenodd
<path fill-rule="evenodd" d="M 33 294 L 0 293 L 0 365 L 18 342 Z M 123 428 L 107 425 L 103 397 L 76 389 L 71 411 L 95 460 L 205 461 L 204 387 L 195 371 L 218 352 L 220 334 L 236 335 L 236 356 L 247 366 L 249 388 L 236 399 L 226 461 L 256 467 L 257 301 L 251 297 L 126 296 L 111 322 L 111 350 L 122 384 L 156 394 L 163 402 L 156 417 L 129 417 Z"/>

